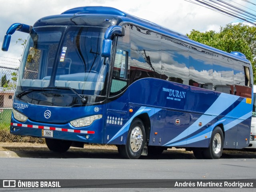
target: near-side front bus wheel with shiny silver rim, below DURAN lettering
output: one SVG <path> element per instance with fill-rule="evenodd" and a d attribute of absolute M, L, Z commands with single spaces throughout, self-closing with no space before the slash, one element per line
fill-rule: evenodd
<path fill-rule="evenodd" d="M 142 121 L 134 119 L 130 125 L 126 145 L 119 145 L 118 152 L 124 158 L 138 159 L 142 154 L 146 133 Z"/>

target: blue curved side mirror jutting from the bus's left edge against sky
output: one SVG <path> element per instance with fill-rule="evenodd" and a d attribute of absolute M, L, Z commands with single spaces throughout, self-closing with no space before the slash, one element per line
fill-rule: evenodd
<path fill-rule="evenodd" d="M 12 24 L 6 32 L 4 36 L 4 41 L 2 44 L 2 51 L 8 51 L 11 42 L 11 35 L 14 34 L 15 31 L 20 31 L 24 33 L 30 33 L 32 26 L 22 24 L 22 23 L 14 23 Z"/>

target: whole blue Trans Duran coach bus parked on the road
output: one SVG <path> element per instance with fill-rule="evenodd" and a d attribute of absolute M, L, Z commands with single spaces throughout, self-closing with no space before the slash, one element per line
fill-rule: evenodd
<path fill-rule="evenodd" d="M 220 158 L 250 141 L 252 66 L 187 36 L 102 6 L 46 16 L 28 33 L 10 133 L 65 152 L 114 144 L 123 158 L 192 150 Z"/>

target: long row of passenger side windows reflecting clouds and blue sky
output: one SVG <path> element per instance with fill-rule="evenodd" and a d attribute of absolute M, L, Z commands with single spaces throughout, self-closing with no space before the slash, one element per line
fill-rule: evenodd
<path fill-rule="evenodd" d="M 251 97 L 249 64 L 132 24 L 125 28 L 130 41 L 130 84 L 153 77 Z"/>

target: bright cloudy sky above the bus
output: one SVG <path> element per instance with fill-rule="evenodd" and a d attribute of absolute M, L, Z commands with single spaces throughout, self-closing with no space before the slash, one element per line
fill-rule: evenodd
<path fill-rule="evenodd" d="M 248 7 L 242 0 L 236 1 Z M 13 23 L 33 25 L 44 16 L 61 14 L 65 10 L 81 6 L 109 6 L 128 14 L 143 18 L 166 28 L 189 34 L 198 30 L 218 32 L 220 26 L 239 22 L 231 18 L 186 0 L 0 0 L 0 45 L 6 31 Z M 28 34 L 15 32 L 12 35 L 9 50 L 0 50 L 0 66 L 19 65 L 23 46 L 16 44 L 18 38 L 26 39 Z M 12 59 L 10 59 L 12 58 Z"/>

